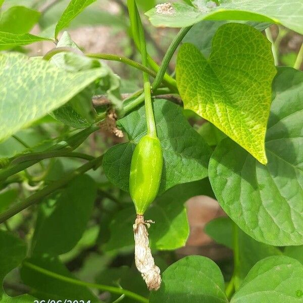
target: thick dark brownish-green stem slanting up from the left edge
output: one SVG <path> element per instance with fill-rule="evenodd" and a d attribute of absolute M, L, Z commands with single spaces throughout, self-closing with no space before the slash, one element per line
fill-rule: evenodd
<path fill-rule="evenodd" d="M 49 184 L 48 186 L 42 188 L 41 190 L 33 193 L 32 195 L 28 196 L 26 199 L 21 201 L 20 203 L 17 203 L 7 211 L 3 212 L 0 214 L 0 224 L 3 223 L 4 221 L 8 220 L 9 218 L 15 216 L 19 212 L 23 211 L 24 209 L 30 207 L 31 205 L 37 203 L 40 201 L 42 198 L 47 196 L 48 194 L 54 192 L 55 190 L 65 186 L 69 181 L 74 179 L 75 177 L 84 174 L 86 171 L 92 169 L 92 168 L 97 168 L 102 164 L 102 159 L 103 155 L 95 158 L 84 165 L 80 166 L 73 172 L 66 174 L 64 178 L 53 182 L 52 184 Z"/>

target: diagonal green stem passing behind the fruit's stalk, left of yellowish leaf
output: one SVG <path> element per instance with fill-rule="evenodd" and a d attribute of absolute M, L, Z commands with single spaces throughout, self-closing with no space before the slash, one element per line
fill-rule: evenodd
<path fill-rule="evenodd" d="M 173 41 L 171 42 L 171 44 L 169 45 L 167 52 L 162 60 L 162 63 L 161 63 L 160 69 L 157 73 L 157 76 L 155 78 L 155 81 L 153 82 L 153 84 L 151 84 L 151 90 L 153 90 L 153 91 L 156 90 L 159 87 L 159 85 L 161 84 L 163 77 L 166 73 L 167 67 L 168 67 L 178 45 L 181 43 L 184 36 L 187 34 L 187 32 L 190 29 L 191 29 L 191 26 L 181 28 L 180 31 L 178 32 L 178 34 L 173 39 Z M 130 112 L 135 107 L 140 105 L 143 101 L 144 101 L 144 94 L 142 93 L 136 99 L 132 100 L 124 107 L 125 113 Z"/>

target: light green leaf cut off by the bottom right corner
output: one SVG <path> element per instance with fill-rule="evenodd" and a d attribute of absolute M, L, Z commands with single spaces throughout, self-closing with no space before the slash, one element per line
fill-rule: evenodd
<path fill-rule="evenodd" d="M 302 302 L 303 266 L 284 256 L 259 261 L 248 273 L 231 303 Z"/>

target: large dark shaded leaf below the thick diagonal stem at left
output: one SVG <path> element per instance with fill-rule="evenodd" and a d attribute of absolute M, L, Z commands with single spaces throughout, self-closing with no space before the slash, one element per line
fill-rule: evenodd
<path fill-rule="evenodd" d="M 39 209 L 32 254 L 56 256 L 71 250 L 87 227 L 95 198 L 96 184 L 87 175 L 75 178 L 60 195 L 46 198 Z"/>

